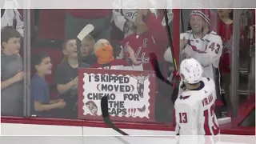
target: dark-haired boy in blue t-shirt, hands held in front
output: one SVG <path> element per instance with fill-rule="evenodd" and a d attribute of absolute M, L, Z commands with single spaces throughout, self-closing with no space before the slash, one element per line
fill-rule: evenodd
<path fill-rule="evenodd" d="M 50 117 L 50 110 L 66 106 L 63 99 L 50 100 L 50 90 L 45 76 L 51 74 L 52 64 L 48 54 L 36 54 L 33 58 L 36 74 L 31 79 L 31 114 L 37 117 Z"/>

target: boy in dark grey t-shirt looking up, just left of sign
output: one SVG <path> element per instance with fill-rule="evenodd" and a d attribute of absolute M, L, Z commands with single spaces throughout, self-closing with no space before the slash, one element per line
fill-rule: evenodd
<path fill-rule="evenodd" d="M 58 93 L 66 102 L 66 107 L 60 113 L 62 118 L 78 118 L 78 48 L 75 39 L 69 39 L 62 46 L 64 58 L 55 73 Z M 81 62 L 82 67 L 88 67 Z"/>

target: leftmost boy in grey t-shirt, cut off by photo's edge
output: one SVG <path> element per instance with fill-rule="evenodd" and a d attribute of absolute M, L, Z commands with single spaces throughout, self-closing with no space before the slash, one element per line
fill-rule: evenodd
<path fill-rule="evenodd" d="M 19 55 L 21 34 L 12 27 L 1 30 L 1 114 L 23 115 L 23 66 Z"/>

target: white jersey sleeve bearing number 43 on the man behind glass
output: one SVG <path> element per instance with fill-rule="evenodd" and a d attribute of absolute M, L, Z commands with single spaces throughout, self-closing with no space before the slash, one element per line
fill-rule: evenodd
<path fill-rule="evenodd" d="M 202 54 L 202 64 L 204 66 L 213 65 L 218 67 L 219 59 L 222 56 L 222 38 L 218 35 L 210 34 L 210 42 L 207 43 L 207 54 Z"/>

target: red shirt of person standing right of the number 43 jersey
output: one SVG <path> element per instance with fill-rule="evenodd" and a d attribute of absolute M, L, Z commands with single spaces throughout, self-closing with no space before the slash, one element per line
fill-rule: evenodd
<path fill-rule="evenodd" d="M 218 19 L 218 35 L 222 38 L 222 56 L 220 58 L 220 69 L 230 73 L 230 53 L 233 41 L 233 24 L 227 25 Z"/>

